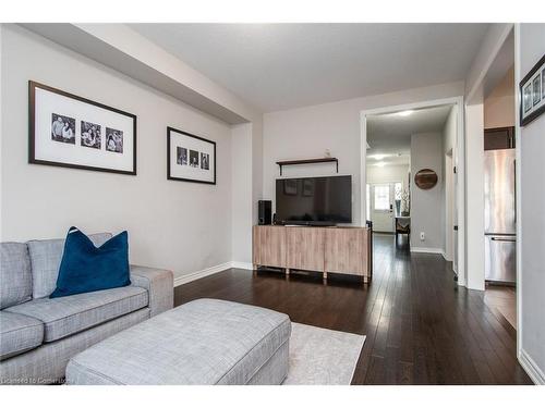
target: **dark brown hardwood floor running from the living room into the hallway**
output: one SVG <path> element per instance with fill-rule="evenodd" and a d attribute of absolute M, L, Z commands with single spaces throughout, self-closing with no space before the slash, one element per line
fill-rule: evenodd
<path fill-rule="evenodd" d="M 441 256 L 375 235 L 370 285 L 350 276 L 231 269 L 179 286 L 174 302 L 210 297 L 284 312 L 299 323 L 365 334 L 353 384 L 531 384 L 516 331 L 484 294 L 457 287 Z"/>

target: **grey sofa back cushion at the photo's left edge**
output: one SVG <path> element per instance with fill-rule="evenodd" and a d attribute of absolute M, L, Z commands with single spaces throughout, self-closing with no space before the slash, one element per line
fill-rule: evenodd
<path fill-rule="evenodd" d="M 28 247 L 21 243 L 0 244 L 0 309 L 31 300 L 32 294 Z"/>

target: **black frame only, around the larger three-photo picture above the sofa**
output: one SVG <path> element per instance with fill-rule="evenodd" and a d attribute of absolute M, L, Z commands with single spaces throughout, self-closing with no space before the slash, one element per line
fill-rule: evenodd
<path fill-rule="evenodd" d="M 64 163 L 64 162 L 58 162 L 58 161 L 51 161 L 51 160 L 44 160 L 44 159 L 36 159 L 36 89 L 44 89 L 49 92 L 53 92 L 60 96 L 63 96 L 65 98 L 74 99 L 80 102 L 84 102 L 87 104 L 92 104 L 97 108 L 101 108 L 108 111 L 111 111 L 113 113 L 118 113 L 121 115 L 129 116 L 133 121 L 133 149 L 132 149 L 132 170 L 130 171 L 124 171 L 124 170 L 118 170 L 118 169 L 108 169 L 108 168 L 99 168 L 99 166 L 93 166 L 93 165 L 85 165 L 85 164 L 74 164 L 74 163 Z M 76 119 L 76 121 L 82 120 L 81 118 Z M 78 169 L 78 170 L 90 170 L 90 171 L 98 171 L 98 172 L 107 172 L 107 173 L 118 173 L 118 174 L 128 174 L 128 175 L 136 175 L 136 121 L 137 118 L 133 113 L 129 113 L 125 111 L 122 111 L 120 109 L 109 107 L 107 104 L 100 103 L 93 101 L 87 98 L 80 97 L 74 94 L 66 92 L 64 90 L 40 84 L 35 81 L 28 81 L 28 163 L 29 164 L 44 164 L 44 165 L 52 165 L 52 166 L 60 166 L 60 168 L 69 168 L 69 169 Z"/>

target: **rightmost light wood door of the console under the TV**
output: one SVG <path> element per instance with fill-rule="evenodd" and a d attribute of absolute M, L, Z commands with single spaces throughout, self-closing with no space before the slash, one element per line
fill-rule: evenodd
<path fill-rule="evenodd" d="M 367 230 L 326 230 L 326 272 L 367 275 Z"/>

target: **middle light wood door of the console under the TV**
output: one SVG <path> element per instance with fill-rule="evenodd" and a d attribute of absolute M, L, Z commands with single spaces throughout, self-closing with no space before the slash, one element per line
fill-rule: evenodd
<path fill-rule="evenodd" d="M 325 228 L 287 226 L 288 268 L 324 272 Z"/>

